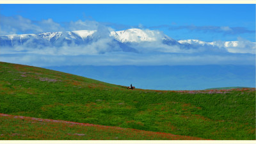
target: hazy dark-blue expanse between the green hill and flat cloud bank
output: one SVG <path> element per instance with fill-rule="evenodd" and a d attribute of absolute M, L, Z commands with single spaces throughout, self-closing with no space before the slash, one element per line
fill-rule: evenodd
<path fill-rule="evenodd" d="M 154 90 L 255 87 L 255 66 L 62 66 L 45 67 L 107 83 Z"/>

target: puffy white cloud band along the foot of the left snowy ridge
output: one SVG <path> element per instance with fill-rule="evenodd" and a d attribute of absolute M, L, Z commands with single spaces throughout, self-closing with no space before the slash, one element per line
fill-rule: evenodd
<path fill-rule="evenodd" d="M 109 51 L 121 51 L 118 45 L 110 47 L 108 44 L 111 42 L 109 38 L 101 38 L 96 42 L 92 42 L 88 45 L 76 45 L 65 44 L 60 47 L 55 46 L 38 46 L 29 47 L 24 43 L 23 45 L 17 45 L 15 47 L 1 47 L 1 54 L 39 54 L 46 56 L 77 56 L 81 54 L 95 55 Z"/>

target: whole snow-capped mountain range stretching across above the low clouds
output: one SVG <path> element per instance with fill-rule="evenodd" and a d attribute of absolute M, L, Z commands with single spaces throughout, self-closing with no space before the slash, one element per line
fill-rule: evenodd
<path fill-rule="evenodd" d="M 108 34 L 105 33 L 104 36 L 102 36 L 102 33 L 100 32 L 101 31 L 97 30 L 80 30 L 26 35 L 4 35 L 0 36 L 0 46 L 15 47 L 16 45 L 26 45 L 29 47 L 58 47 L 72 44 L 90 45 L 93 44 L 93 42 L 99 42 L 99 40 L 104 39 L 102 42 L 104 42 L 107 47 L 115 47 L 115 51 L 145 51 L 145 47 L 150 47 L 152 51 L 159 52 L 180 52 L 180 50 L 195 50 L 198 47 L 204 47 L 204 49 L 200 49 L 200 51 L 211 51 L 214 47 L 218 47 L 216 51 L 220 51 L 221 47 L 225 48 L 228 52 L 240 51 L 241 49 L 234 49 L 237 47 L 244 48 L 241 50 L 242 53 L 253 53 L 255 51 L 255 42 L 204 42 L 201 40 L 177 41 L 167 35 L 164 35 L 161 31 L 149 29 L 134 28 L 123 31 L 110 31 Z M 106 35 L 108 36 L 106 37 Z M 99 42 L 99 47 L 102 42 Z M 98 46 L 96 45 L 96 47 Z M 143 47 L 143 49 L 140 49 L 141 47 Z"/>

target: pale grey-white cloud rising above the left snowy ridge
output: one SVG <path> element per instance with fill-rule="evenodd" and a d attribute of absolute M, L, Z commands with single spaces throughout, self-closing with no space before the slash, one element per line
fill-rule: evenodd
<path fill-rule="evenodd" d="M 94 20 L 77 20 L 66 22 L 61 26 L 60 23 L 52 19 L 30 20 L 20 15 L 6 17 L 0 15 L 0 35 L 16 35 L 27 33 L 43 33 L 54 31 L 77 31 L 77 30 L 95 30 L 99 27 L 106 27 Z M 112 28 L 106 27 L 109 31 Z"/>

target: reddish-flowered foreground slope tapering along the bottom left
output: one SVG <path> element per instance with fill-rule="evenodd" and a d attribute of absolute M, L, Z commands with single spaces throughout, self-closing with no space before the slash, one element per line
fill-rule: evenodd
<path fill-rule="evenodd" d="M 204 140 L 163 132 L 0 114 L 0 140 Z"/>

